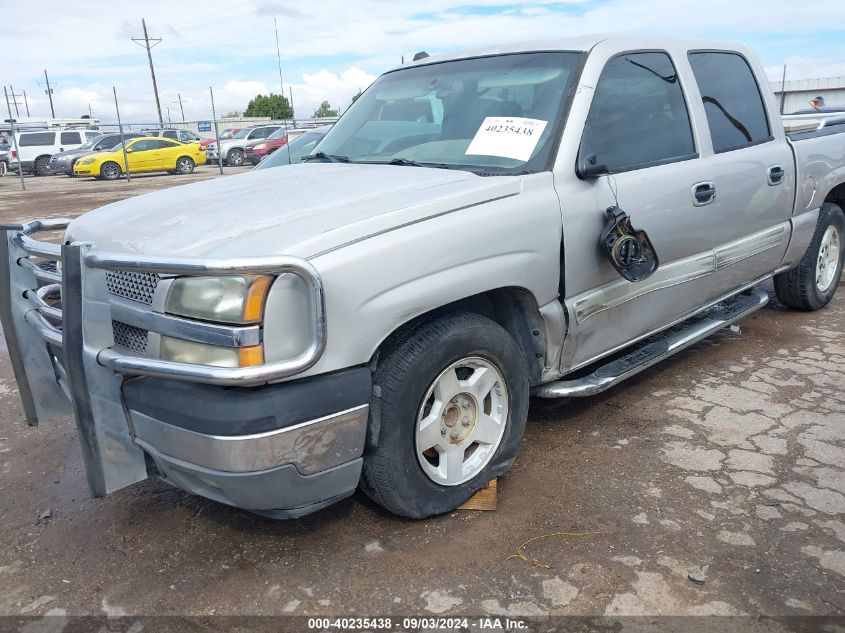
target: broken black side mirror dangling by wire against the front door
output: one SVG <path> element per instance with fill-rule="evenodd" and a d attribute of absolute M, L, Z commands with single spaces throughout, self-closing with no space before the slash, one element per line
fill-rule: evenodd
<path fill-rule="evenodd" d="M 602 252 L 628 281 L 640 281 L 657 270 L 660 260 L 648 235 L 635 229 L 631 219 L 619 207 L 609 207 L 607 222 L 601 232 Z"/>

